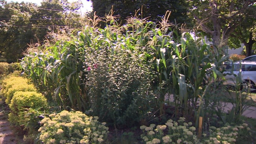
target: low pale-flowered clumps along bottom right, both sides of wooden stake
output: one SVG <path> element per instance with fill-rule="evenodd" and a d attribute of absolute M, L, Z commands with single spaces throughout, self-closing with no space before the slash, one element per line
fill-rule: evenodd
<path fill-rule="evenodd" d="M 146 144 L 234 144 L 239 134 L 250 134 L 247 124 L 240 126 L 229 126 L 216 128 L 210 127 L 209 134 L 203 134 L 200 142 L 196 137 L 196 128 L 192 126 L 192 122 L 184 122 L 185 118 L 180 117 L 178 122 L 172 119 L 168 120 L 165 125 L 151 124 L 149 127 L 140 126 L 143 131 L 141 138 Z"/>

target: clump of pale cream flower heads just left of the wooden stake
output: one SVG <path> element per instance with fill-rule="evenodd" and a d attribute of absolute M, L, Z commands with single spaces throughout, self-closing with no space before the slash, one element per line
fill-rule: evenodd
<path fill-rule="evenodd" d="M 140 126 L 143 131 L 141 138 L 146 144 L 194 144 L 199 140 L 196 138 L 196 128 L 192 126 L 192 122 L 186 123 L 184 117 L 176 122 L 172 119 L 168 120 L 165 125 L 151 124 L 149 127 Z"/>

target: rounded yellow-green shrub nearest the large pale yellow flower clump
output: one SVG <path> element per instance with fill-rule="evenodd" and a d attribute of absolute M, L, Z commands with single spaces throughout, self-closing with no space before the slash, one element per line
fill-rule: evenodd
<path fill-rule="evenodd" d="M 40 93 L 15 92 L 10 104 L 11 111 L 9 113 L 9 121 L 11 124 L 21 126 L 28 123 L 23 115 L 25 108 L 42 108 L 42 110 L 45 110 L 47 108 L 47 100 Z M 38 122 L 36 124 L 38 124 Z"/>

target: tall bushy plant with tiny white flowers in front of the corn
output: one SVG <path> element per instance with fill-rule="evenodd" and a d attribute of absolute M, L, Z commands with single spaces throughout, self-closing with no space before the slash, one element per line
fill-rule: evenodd
<path fill-rule="evenodd" d="M 152 76 L 138 53 L 102 49 L 88 53 L 85 65 L 93 115 L 120 128 L 138 123 L 150 111 Z"/>

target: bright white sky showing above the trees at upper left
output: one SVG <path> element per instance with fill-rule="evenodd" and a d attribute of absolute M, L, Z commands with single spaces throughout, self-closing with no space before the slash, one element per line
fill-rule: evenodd
<path fill-rule="evenodd" d="M 40 3 L 43 1 L 43 0 L 7 0 L 7 2 L 32 2 L 32 3 L 36 3 L 37 5 L 41 5 Z M 68 0 L 69 2 L 74 2 L 76 0 Z M 91 2 L 88 2 L 87 0 L 82 0 L 82 3 L 83 3 L 83 8 L 81 8 L 81 11 L 82 13 L 86 12 L 86 11 L 92 11 L 92 3 Z"/>

